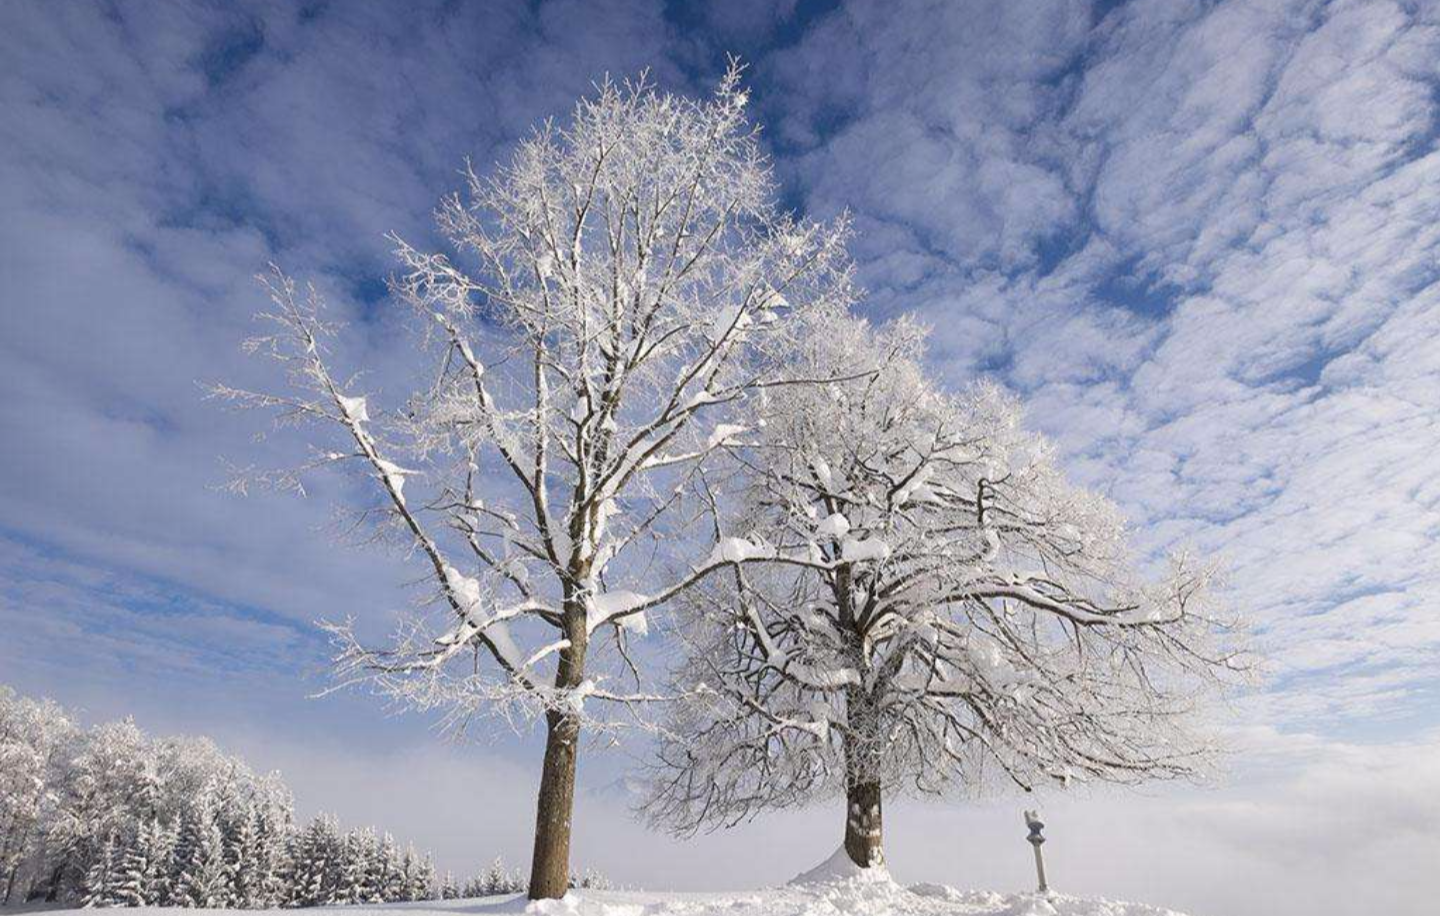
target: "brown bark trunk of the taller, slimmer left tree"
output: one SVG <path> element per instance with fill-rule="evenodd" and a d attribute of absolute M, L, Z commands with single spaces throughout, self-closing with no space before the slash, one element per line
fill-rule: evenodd
<path fill-rule="evenodd" d="M 588 570 L 577 570 L 583 580 Z M 585 603 L 573 595 L 564 602 L 564 637 L 554 686 L 573 690 L 585 680 L 589 631 Z M 546 713 L 544 765 L 536 804 L 536 848 L 530 860 L 530 899 L 563 897 L 570 887 L 570 818 L 575 811 L 575 765 L 580 752 L 580 719 L 567 709 Z"/>

